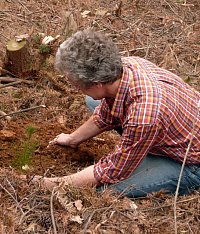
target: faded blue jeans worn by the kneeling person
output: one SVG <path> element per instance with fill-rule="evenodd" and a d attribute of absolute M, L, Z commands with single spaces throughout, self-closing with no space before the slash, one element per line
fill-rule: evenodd
<path fill-rule="evenodd" d="M 90 110 L 99 104 L 99 101 L 86 98 L 86 104 Z M 143 197 L 148 193 L 160 190 L 167 193 L 175 193 L 181 164 L 169 157 L 147 155 L 129 178 L 107 187 L 128 197 Z M 97 191 L 102 191 L 105 186 L 100 186 Z M 185 165 L 179 194 L 188 194 L 200 188 L 200 164 Z"/>

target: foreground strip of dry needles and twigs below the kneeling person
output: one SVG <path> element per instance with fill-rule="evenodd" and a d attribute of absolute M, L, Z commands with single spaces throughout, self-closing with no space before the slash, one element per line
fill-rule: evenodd
<path fill-rule="evenodd" d="M 174 232 L 172 196 L 156 193 L 133 202 L 94 188 L 67 186 L 53 194 L 38 185 L 1 171 L 1 233 Z M 198 233 L 199 201 L 198 192 L 178 201 L 178 233 Z"/>

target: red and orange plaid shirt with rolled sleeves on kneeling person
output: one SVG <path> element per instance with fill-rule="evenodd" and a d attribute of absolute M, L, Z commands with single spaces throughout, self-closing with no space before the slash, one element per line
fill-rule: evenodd
<path fill-rule="evenodd" d="M 101 183 L 127 178 L 147 154 L 182 162 L 197 118 L 200 93 L 181 78 L 139 57 L 122 61 L 116 97 L 102 99 L 93 114 L 100 129 L 123 128 L 113 152 L 94 166 Z M 186 163 L 200 163 L 199 116 Z"/>

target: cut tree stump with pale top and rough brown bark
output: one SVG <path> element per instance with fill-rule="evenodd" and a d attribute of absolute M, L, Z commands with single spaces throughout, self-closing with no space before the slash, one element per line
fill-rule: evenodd
<path fill-rule="evenodd" d="M 26 39 L 21 41 L 10 40 L 6 49 L 6 69 L 19 78 L 30 76 L 32 73 L 32 58 L 28 41 Z"/>

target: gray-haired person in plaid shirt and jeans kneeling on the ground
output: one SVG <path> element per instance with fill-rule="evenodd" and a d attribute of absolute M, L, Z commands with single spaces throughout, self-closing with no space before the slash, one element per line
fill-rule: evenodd
<path fill-rule="evenodd" d="M 107 185 L 129 197 L 161 189 L 174 193 L 195 128 L 180 194 L 200 187 L 199 92 L 148 60 L 121 57 L 111 39 L 91 29 L 78 31 L 60 45 L 55 67 L 86 95 L 93 114 L 74 132 L 56 136 L 49 147 L 74 148 L 112 129 L 120 140 L 94 165 L 69 176 L 45 177 L 44 186 L 64 181 L 101 190 Z"/>

